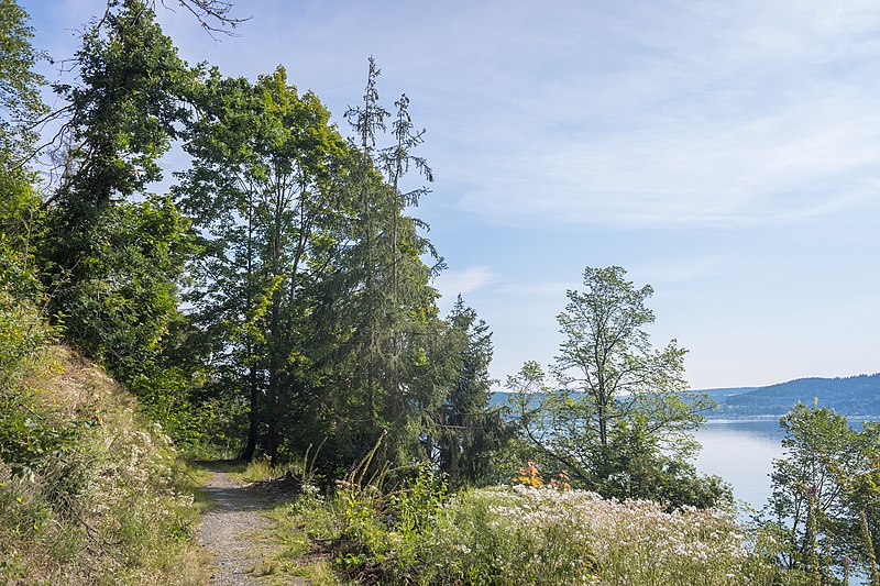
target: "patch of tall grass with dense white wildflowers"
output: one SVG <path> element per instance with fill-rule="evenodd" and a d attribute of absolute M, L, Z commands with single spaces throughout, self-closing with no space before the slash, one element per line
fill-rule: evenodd
<path fill-rule="evenodd" d="M 772 571 L 725 512 L 666 512 L 653 501 L 604 500 L 528 486 L 459 495 L 432 538 L 435 560 L 469 584 L 770 584 Z M 476 572 L 474 568 L 477 568 Z"/>

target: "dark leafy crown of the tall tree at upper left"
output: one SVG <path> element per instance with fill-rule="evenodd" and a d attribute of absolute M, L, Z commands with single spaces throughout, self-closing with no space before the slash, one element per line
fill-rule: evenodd
<path fill-rule="evenodd" d="M 182 98 L 193 77 L 142 0 L 110 2 L 84 33 L 75 63 L 81 84 L 56 86 L 69 120 L 65 181 L 55 201 L 65 213 L 58 222 L 73 232 L 59 236 L 88 239 L 89 222 L 113 197 L 143 192 L 162 178 L 158 158 L 170 147 L 175 123 L 186 118 Z"/>

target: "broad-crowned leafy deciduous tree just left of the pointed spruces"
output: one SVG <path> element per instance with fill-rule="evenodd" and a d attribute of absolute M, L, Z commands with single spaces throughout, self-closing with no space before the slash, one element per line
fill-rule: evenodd
<path fill-rule="evenodd" d="M 245 458 L 262 447 L 277 457 L 292 409 L 314 398 L 315 284 L 334 254 L 345 143 L 311 92 L 286 71 L 202 84 L 199 115 L 187 131 L 193 167 L 176 189 L 196 218 L 208 254 L 193 300 L 221 340 L 215 360 L 246 389 Z"/>

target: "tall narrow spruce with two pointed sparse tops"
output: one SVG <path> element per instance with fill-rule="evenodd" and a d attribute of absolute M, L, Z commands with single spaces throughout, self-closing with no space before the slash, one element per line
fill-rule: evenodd
<path fill-rule="evenodd" d="M 378 75 L 371 58 L 363 103 L 348 112 L 355 134 L 345 215 L 350 240 L 328 284 L 344 291 L 336 308 L 342 332 L 337 389 L 343 396 L 334 401 L 350 422 L 340 449 L 364 453 L 387 430 L 376 461 L 407 464 L 427 457 L 425 413 L 442 402 L 446 388 L 438 354 L 444 327 L 430 286 L 442 261 L 425 264 L 425 257 L 437 258 L 436 251 L 419 232 L 426 224 L 407 213 L 427 191 L 403 190 L 407 169 L 431 176 L 411 154 L 422 133 L 413 131 L 406 97 L 396 102 L 392 145 L 377 145 L 391 115 L 378 100 Z"/>

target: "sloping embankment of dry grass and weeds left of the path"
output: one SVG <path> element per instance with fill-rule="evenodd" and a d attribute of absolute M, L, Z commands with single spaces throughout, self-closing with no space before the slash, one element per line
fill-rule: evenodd
<path fill-rule="evenodd" d="M 205 584 L 196 483 L 99 367 L 50 346 L 0 387 L 0 583 Z"/>

